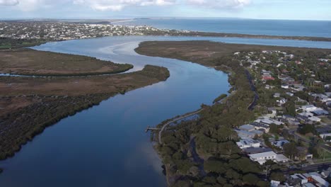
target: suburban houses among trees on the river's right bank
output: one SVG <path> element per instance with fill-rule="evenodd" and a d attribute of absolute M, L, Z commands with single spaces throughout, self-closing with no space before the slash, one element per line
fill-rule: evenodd
<path fill-rule="evenodd" d="M 266 175 L 272 164 L 280 167 L 270 176 L 272 186 L 330 186 L 331 55 L 263 50 L 233 56 L 260 93 L 260 115 L 235 129 L 238 147 L 265 166 Z"/>

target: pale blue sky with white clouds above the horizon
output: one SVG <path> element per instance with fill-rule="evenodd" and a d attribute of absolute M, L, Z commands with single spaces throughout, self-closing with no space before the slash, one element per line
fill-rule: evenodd
<path fill-rule="evenodd" d="M 331 21 L 331 0 L 0 0 L 0 19 L 213 17 Z"/>

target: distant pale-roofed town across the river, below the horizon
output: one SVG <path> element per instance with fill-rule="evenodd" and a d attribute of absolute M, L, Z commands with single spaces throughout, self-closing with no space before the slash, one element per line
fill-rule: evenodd
<path fill-rule="evenodd" d="M 115 35 L 180 35 L 185 30 L 150 26 L 120 26 L 110 23 L 71 23 L 64 21 L 0 21 L 0 38 L 16 40 L 74 40 Z"/>

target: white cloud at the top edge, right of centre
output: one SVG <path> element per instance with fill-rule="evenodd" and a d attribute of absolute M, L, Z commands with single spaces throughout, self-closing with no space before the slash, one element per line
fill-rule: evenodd
<path fill-rule="evenodd" d="M 209 8 L 241 8 L 249 5 L 250 0 L 186 0 L 187 4 Z"/>

